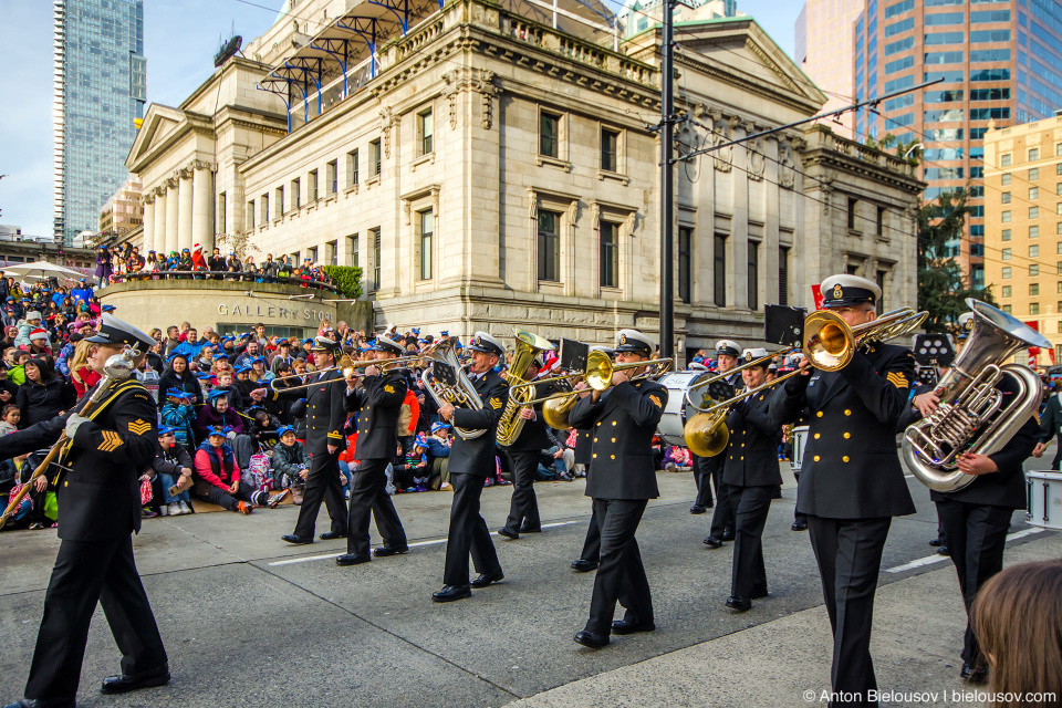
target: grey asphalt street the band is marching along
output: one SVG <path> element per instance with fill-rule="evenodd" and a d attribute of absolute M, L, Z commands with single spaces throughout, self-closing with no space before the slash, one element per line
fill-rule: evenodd
<path fill-rule="evenodd" d="M 406 555 L 354 568 L 337 568 L 332 561 L 345 550 L 343 541 L 282 543 L 280 535 L 294 525 L 296 509 L 291 506 L 251 517 L 217 512 L 146 521 L 135 538 L 137 564 L 174 680 L 166 688 L 124 697 L 100 695 L 100 679 L 117 673 L 119 656 L 97 611 L 79 704 L 399 708 L 502 706 L 527 698 L 529 706 L 560 706 L 575 705 L 573 697 L 582 696 L 587 706 L 618 705 L 615 698 L 604 699 L 605 688 L 601 700 L 595 699 L 594 681 L 615 676 L 629 680 L 643 676 L 643 669 L 649 671 L 645 676 L 656 676 L 653 666 L 667 667 L 666 662 L 683 657 L 716 679 L 714 663 L 723 667 L 737 657 L 756 657 L 739 662 L 747 669 L 740 677 L 728 669 L 736 683 L 727 685 L 732 690 L 725 691 L 726 698 L 723 693 L 695 694 L 688 705 L 773 705 L 764 681 L 778 673 L 779 662 L 790 662 L 790 674 L 806 671 L 814 688 L 827 688 L 831 647 L 829 633 L 822 632 L 819 577 L 806 533 L 790 530 L 795 487 L 788 464 L 782 467 L 783 499 L 774 501 L 763 539 L 772 596 L 740 615 L 723 607 L 730 544 L 709 550 L 701 543 L 710 513 L 689 514 L 693 476 L 662 472 L 662 497 L 650 503 L 638 533 L 658 628 L 618 637 L 600 652 L 572 642 L 585 623 L 593 584 L 592 573 L 569 570 L 590 517 L 581 480 L 537 485 L 544 532 L 516 541 L 496 538 L 504 582 L 446 605 L 433 603 L 430 595 L 442 584 L 447 492 L 396 497 L 414 548 Z M 954 675 L 965 623 L 958 586 L 950 563 L 927 544 L 936 534 L 928 491 L 914 479 L 907 482 L 918 512 L 894 521 L 881 582 L 909 587 L 879 591 L 879 596 L 895 598 L 889 601 L 895 606 L 879 612 L 879 621 L 891 623 L 882 634 L 895 634 L 891 643 L 917 647 L 919 633 L 933 633 L 944 656 L 934 659 L 933 670 L 959 687 Z M 504 521 L 511 489 L 483 492 L 492 530 Z M 327 528 L 323 510 L 321 519 L 319 532 Z M 1016 512 L 1008 558 L 1018 558 L 1028 543 L 1040 545 L 1029 546 L 1027 555 L 1062 555 L 1062 537 L 1023 533 L 1027 530 L 1024 513 Z M 22 695 L 56 548 L 54 531 L 0 533 L 0 699 Z M 923 574 L 925 579 L 917 577 Z M 917 583 L 930 579 L 930 596 L 915 594 Z M 939 622 L 910 622 L 919 612 L 930 612 Z M 800 650 L 789 656 L 785 647 L 794 642 Z M 954 664 L 946 658 L 949 644 Z M 881 683 L 889 678 L 891 667 L 879 667 Z M 674 683 L 668 669 L 660 670 L 653 680 Z M 895 670 L 909 671 L 909 665 Z M 653 681 L 639 686 L 636 700 L 631 693 L 635 688 L 624 689 L 631 705 L 681 702 L 658 702 Z M 551 689 L 561 696 L 568 690 L 568 698 L 535 702 L 539 695 L 552 696 L 543 694 Z"/>

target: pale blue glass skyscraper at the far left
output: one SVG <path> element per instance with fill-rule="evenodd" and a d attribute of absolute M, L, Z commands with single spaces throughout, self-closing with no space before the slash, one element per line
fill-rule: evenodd
<path fill-rule="evenodd" d="M 95 231 L 147 98 L 144 0 L 55 0 L 53 232 Z"/>

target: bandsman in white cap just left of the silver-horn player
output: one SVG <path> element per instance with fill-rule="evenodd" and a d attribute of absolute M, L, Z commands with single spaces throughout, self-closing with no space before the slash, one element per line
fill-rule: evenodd
<path fill-rule="evenodd" d="M 386 336 L 376 337 L 371 354 L 375 361 L 402 356 L 402 346 Z M 357 369 L 354 369 L 357 372 Z M 346 537 L 346 553 L 335 559 L 336 565 L 366 563 L 368 554 L 368 520 L 376 518 L 376 530 L 384 544 L 373 551 L 377 558 L 405 553 L 409 550 L 402 520 L 395 504 L 385 491 L 387 464 L 398 447 L 398 414 L 406 398 L 406 377 L 397 366 L 382 372 L 376 366 L 365 367 L 365 375 L 354 374 L 354 385 L 347 379 L 346 410 L 357 410 L 357 442 L 354 459 L 357 470 L 351 483 L 351 508 Z"/>

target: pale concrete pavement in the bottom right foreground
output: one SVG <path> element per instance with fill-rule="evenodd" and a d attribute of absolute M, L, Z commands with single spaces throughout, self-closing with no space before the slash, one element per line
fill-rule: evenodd
<path fill-rule="evenodd" d="M 1007 565 L 1062 558 L 1062 535 L 1008 546 Z M 697 622 L 690 617 L 690 622 Z M 871 653 L 883 706 L 980 708 L 959 678 L 966 616 L 955 568 L 882 585 Z M 637 637 L 613 637 L 614 643 Z M 825 706 L 832 652 L 823 605 L 566 684 L 510 708 Z M 601 652 L 613 650 L 610 646 Z M 587 649 L 591 652 L 591 649 Z M 892 691 L 892 695 L 886 695 Z"/>

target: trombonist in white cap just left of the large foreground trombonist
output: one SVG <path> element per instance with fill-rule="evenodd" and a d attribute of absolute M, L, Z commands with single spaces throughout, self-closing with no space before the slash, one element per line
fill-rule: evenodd
<path fill-rule="evenodd" d="M 746 350 L 746 361 L 767 356 L 766 348 Z M 767 381 L 767 363 L 741 372 L 748 389 Z M 730 408 L 727 429 L 730 439 L 722 452 L 726 466 L 722 481 L 730 490 L 735 509 L 733 563 L 727 606 L 738 612 L 752 607 L 752 601 L 767 597 L 767 569 L 763 566 L 763 525 L 771 510 L 771 498 L 782 483 L 778 470 L 778 428 L 770 413 L 773 389 L 749 396 Z"/>

